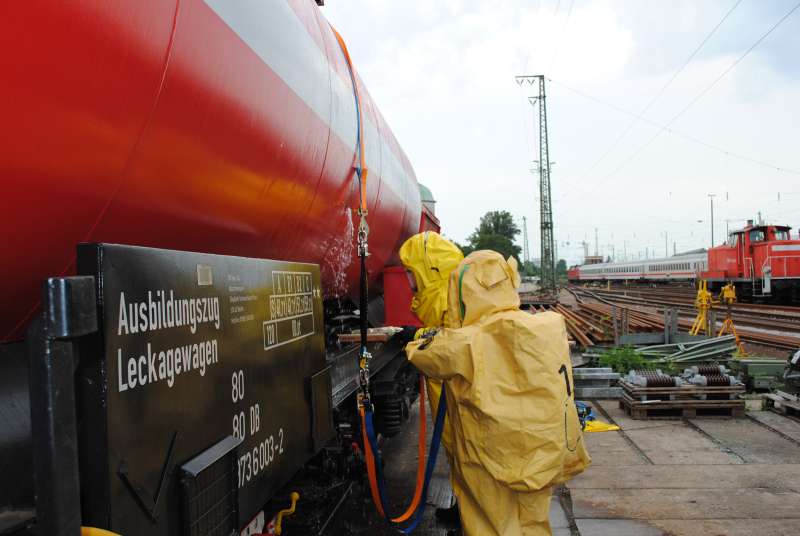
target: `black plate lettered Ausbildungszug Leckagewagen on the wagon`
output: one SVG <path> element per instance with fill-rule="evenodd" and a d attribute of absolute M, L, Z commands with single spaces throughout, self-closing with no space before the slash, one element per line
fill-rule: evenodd
<path fill-rule="evenodd" d="M 176 468 L 233 435 L 244 526 L 320 441 L 318 266 L 101 244 L 78 271 L 102 319 L 78 372 L 84 521 L 178 534 Z"/>

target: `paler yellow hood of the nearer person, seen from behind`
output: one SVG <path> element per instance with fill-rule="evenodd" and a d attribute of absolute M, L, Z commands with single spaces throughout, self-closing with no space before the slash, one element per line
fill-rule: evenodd
<path fill-rule="evenodd" d="M 470 253 L 450 275 L 445 327 L 469 326 L 499 311 L 519 309 L 517 261 L 496 251 Z"/>

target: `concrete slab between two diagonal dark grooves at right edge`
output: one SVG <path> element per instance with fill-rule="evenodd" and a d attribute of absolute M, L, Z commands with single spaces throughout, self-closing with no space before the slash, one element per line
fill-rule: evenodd
<path fill-rule="evenodd" d="M 748 463 L 800 462 L 800 446 L 749 419 L 692 419 L 691 422 Z"/>

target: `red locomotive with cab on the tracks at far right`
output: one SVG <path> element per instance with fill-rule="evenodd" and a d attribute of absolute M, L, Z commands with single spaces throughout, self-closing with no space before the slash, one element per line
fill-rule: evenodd
<path fill-rule="evenodd" d="M 742 297 L 800 299 L 800 239 L 785 225 L 754 225 L 730 233 L 728 241 L 708 251 L 709 288 L 736 284 Z"/>

